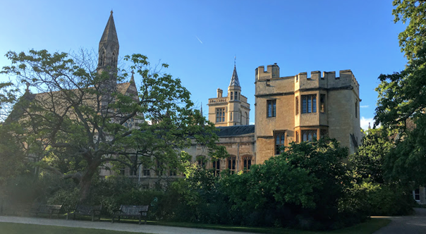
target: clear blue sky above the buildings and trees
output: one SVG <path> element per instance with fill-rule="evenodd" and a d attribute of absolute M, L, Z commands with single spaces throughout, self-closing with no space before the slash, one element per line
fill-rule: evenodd
<path fill-rule="evenodd" d="M 362 127 L 374 116 L 381 73 L 402 70 L 405 25 L 391 0 L 327 1 L 1 1 L 0 66 L 7 51 L 97 51 L 111 9 L 120 56 L 169 63 L 207 116 L 207 99 L 226 90 L 236 56 L 242 94 L 255 115 L 255 68 L 281 76 L 351 69 L 360 84 Z M 6 79 L 1 77 L 2 80 Z"/>

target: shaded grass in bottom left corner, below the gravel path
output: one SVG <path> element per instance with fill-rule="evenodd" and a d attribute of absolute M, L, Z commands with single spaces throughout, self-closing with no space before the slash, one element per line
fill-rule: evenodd
<path fill-rule="evenodd" d="M 0 223 L 0 234 L 134 234 L 116 230 L 69 228 L 23 223 Z M 147 233 L 145 233 L 147 234 Z"/>

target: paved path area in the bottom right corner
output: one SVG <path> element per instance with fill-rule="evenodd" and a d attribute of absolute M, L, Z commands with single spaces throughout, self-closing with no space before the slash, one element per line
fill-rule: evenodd
<path fill-rule="evenodd" d="M 380 228 L 373 234 L 425 234 L 426 233 L 426 209 L 414 208 L 413 216 L 391 216 L 388 226 Z"/>

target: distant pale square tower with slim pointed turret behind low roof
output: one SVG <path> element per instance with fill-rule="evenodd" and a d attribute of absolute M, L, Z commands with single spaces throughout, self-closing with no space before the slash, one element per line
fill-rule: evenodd
<path fill-rule="evenodd" d="M 209 121 L 216 126 L 249 125 L 250 104 L 241 94 L 236 65 L 233 66 L 228 97 L 222 97 L 223 90 L 217 89 L 217 97 L 209 99 Z"/>

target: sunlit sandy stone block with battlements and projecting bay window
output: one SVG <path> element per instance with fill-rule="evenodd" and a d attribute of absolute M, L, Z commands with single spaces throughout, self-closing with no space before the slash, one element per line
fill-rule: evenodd
<path fill-rule="evenodd" d="M 279 152 L 277 141 L 288 145 L 324 135 L 354 153 L 361 140 L 361 100 L 352 71 L 336 75 L 315 70 L 283 77 L 279 72 L 276 63 L 255 69 L 256 163 Z"/>

